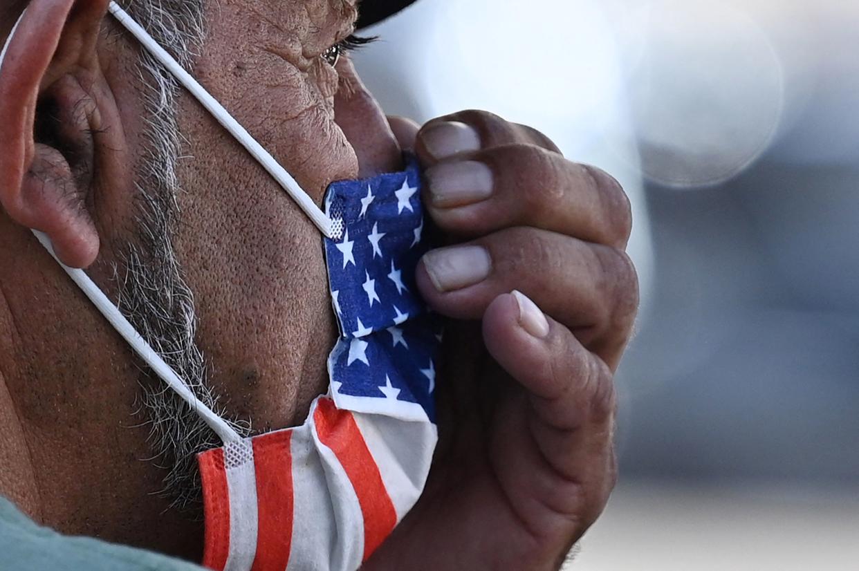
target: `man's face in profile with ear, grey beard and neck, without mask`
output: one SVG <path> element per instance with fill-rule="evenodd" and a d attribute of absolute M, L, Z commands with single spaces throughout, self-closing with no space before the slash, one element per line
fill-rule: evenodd
<path fill-rule="evenodd" d="M 58 3 L 4 2 L 3 38 L 27 4 L 41 33 L 16 33 L 0 76 L 14 102 L 0 122 L 16 125 L 3 180 L 27 165 L 0 214 L 0 263 L 14 268 L 0 276 L 0 422 L 14 427 L 0 491 L 62 532 L 197 557 L 193 453 L 216 440 L 27 228 L 88 268 L 204 401 L 253 432 L 300 424 L 326 390 L 336 325 L 320 234 L 104 16 L 107 2 L 60 3 L 68 18 Z M 334 180 L 401 166 L 348 58 L 332 66 L 356 0 L 127 4 L 316 203 Z M 33 118 L 32 135 L 13 117 Z"/>

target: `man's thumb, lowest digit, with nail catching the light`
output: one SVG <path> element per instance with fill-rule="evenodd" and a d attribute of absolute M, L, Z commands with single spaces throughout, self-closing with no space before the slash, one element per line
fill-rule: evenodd
<path fill-rule="evenodd" d="M 539 457 L 511 457 L 507 461 L 523 464 L 523 470 L 507 473 L 527 479 L 516 486 L 527 486 L 555 511 L 576 513 L 588 525 L 605 505 L 616 474 L 612 372 L 518 292 L 492 302 L 483 332 L 490 355 L 526 390 L 521 398 L 530 400 L 534 412 L 516 417 L 512 406 L 498 419 L 509 428 L 504 440 L 523 434 L 532 440 L 515 447 L 520 455 L 524 450 Z M 499 453 L 510 447 L 498 446 Z M 544 462 L 548 476 L 535 469 Z"/>

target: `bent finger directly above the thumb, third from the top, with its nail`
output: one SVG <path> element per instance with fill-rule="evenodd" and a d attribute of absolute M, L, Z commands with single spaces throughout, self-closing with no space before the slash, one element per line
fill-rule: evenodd
<path fill-rule="evenodd" d="M 617 248 L 536 228 L 509 228 L 429 252 L 417 286 L 436 312 L 481 319 L 519 289 L 615 367 L 638 304 L 635 268 Z M 484 318 L 485 319 L 485 318 Z"/>

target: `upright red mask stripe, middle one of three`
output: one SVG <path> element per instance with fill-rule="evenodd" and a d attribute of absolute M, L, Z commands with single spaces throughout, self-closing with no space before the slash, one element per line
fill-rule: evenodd
<path fill-rule="evenodd" d="M 293 489 L 291 430 L 253 439 L 253 464 L 257 473 L 259 532 L 253 571 L 285 569 L 292 544 Z"/>

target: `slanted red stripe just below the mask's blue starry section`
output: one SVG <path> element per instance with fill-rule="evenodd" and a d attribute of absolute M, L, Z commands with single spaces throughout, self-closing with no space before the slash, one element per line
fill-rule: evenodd
<path fill-rule="evenodd" d="M 338 410 L 330 398 L 320 398 L 314 422 L 320 441 L 332 449 L 355 489 L 364 518 L 363 561 L 367 561 L 393 531 L 397 512 L 352 413 Z"/>

